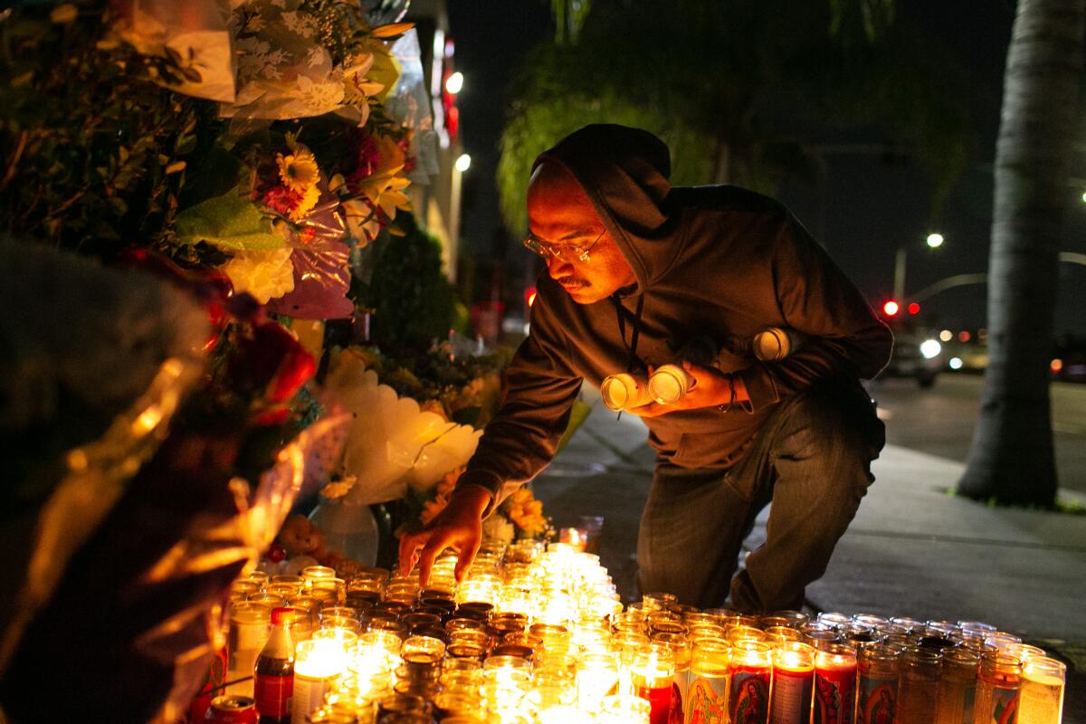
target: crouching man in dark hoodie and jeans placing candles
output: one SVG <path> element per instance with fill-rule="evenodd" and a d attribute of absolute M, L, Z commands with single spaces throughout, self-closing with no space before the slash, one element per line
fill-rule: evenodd
<path fill-rule="evenodd" d="M 583 382 L 677 361 L 691 390 L 630 410 L 657 454 L 642 592 L 798 609 L 825 571 L 885 442 L 859 380 L 886 364 L 893 336 L 784 206 L 731 186 L 672 187 L 669 175 L 662 141 L 615 125 L 582 128 L 535 161 L 525 244 L 547 274 L 501 410 L 445 509 L 401 539 L 401 566 L 418 562 L 424 583 L 446 547 L 463 576 L 482 518 L 550 462 Z M 761 361 L 753 339 L 771 327 L 805 342 Z M 712 359 L 681 359 L 705 340 Z M 735 574 L 770 501 L 766 542 Z"/>

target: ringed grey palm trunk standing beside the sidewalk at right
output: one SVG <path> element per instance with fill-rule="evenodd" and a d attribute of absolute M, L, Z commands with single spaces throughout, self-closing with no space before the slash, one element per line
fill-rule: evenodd
<path fill-rule="evenodd" d="M 988 370 L 958 492 L 1051 506 L 1048 365 L 1086 0 L 1019 0 L 1003 76 L 988 263 Z"/>

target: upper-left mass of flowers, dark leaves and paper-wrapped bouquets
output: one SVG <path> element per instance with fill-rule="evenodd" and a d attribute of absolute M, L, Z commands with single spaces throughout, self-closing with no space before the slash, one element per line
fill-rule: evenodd
<path fill-rule="evenodd" d="M 311 274 L 338 264 L 338 295 L 311 296 L 308 317 L 342 316 L 344 250 L 409 207 L 412 131 L 381 101 L 397 79 L 389 41 L 411 25 L 370 27 L 338 0 L 229 4 L 8 11 L 0 216 L 105 258 L 135 244 L 220 267 L 261 303 L 294 289 L 299 257 L 282 250 L 304 250 Z"/>

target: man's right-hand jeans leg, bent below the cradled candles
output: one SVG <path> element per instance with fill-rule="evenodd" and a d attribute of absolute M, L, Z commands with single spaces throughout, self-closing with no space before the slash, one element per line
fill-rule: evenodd
<path fill-rule="evenodd" d="M 740 490 L 772 491 L 766 543 L 732 580 L 744 611 L 798 608 L 874 481 L 883 423 L 862 390 L 816 388 L 782 403 L 753 455 L 728 475 Z"/>

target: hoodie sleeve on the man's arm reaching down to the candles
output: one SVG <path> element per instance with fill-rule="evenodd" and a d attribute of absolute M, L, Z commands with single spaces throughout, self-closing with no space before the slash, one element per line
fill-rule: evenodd
<path fill-rule="evenodd" d="M 519 485 L 551 461 L 569 422 L 582 378 L 568 364 L 566 335 L 546 314 L 532 309 L 531 331 L 506 370 L 505 398 L 487 424 L 457 486 L 480 485 L 493 500 L 490 515 Z"/>

